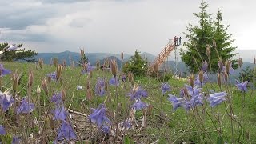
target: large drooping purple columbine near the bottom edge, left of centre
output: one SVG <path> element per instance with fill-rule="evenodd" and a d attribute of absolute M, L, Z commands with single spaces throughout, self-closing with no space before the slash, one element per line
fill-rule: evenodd
<path fill-rule="evenodd" d="M 70 122 L 62 122 L 62 126 L 58 129 L 58 135 L 55 141 L 58 143 L 59 140 L 62 140 L 64 138 L 67 141 L 77 138 L 72 126 L 70 125 Z"/>

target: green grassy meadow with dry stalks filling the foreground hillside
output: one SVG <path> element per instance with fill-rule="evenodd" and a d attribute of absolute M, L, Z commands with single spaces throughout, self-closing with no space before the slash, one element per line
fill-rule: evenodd
<path fill-rule="evenodd" d="M 22 97 L 28 96 L 29 71 L 34 74 L 31 87 L 30 102 L 34 103 L 31 113 L 15 114 L 15 104 L 6 112 L 1 111 L 1 124 L 6 134 L 1 135 L 2 143 L 11 142 L 14 136 L 20 143 L 256 143 L 256 92 L 248 87 L 242 93 L 236 86 L 222 84 L 222 90 L 215 82 L 207 82 L 202 86 L 203 104 L 190 110 L 178 107 L 173 110 L 168 94 L 178 97 L 180 90 L 189 82 L 170 78 L 170 91 L 162 94 L 161 80 L 149 76 L 134 78 L 134 85 L 146 90 L 147 97 L 140 98 L 146 108 L 136 110 L 132 114 L 129 93 L 134 89 L 128 78 L 122 82 L 122 72 L 118 70 L 118 86 L 107 84 L 106 93 L 95 94 L 97 78 L 105 78 L 106 83 L 113 77 L 111 70 L 93 70 L 91 74 L 81 74 L 82 67 L 66 66 L 62 70 L 61 80 L 48 82 L 46 74 L 53 73 L 55 66 L 42 65 L 42 69 L 34 63 L 2 62 L 3 66 L 12 71 L 2 77 L 2 93 L 10 90 L 17 94 L 17 106 Z M 21 74 L 18 90 L 12 88 L 13 74 Z M 42 88 L 42 80 L 46 78 L 49 94 Z M 90 84 L 89 84 L 89 82 Z M 79 90 L 77 86 L 82 86 Z M 40 87 L 40 90 L 38 89 Z M 209 90 L 226 91 L 229 97 L 218 106 L 210 107 Z M 76 138 L 62 138 L 56 141 L 62 121 L 53 120 L 54 103 L 50 98 L 54 93 L 62 93 L 66 111 L 66 122 L 69 122 Z M 90 91 L 90 92 L 89 92 Z M 63 96 L 65 95 L 65 96 Z M 89 96 L 88 96 L 89 95 Z M 106 117 L 109 118 L 109 130 L 102 132 L 94 122 L 90 121 L 91 108 L 99 104 L 106 106 Z M 232 107 L 230 109 L 230 106 Z M 232 110 L 230 118 L 230 110 Z M 134 116 L 134 117 L 133 117 Z M 134 118 L 126 130 L 116 129 L 117 124 L 127 118 Z M 232 120 L 233 119 L 233 120 Z M 62 133 L 61 133 L 62 134 Z"/>

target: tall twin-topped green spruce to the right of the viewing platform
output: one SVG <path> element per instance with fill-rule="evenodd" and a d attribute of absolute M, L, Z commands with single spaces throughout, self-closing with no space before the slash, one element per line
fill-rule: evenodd
<path fill-rule="evenodd" d="M 210 64 L 212 72 L 218 70 L 218 54 L 222 60 L 230 60 L 234 56 L 231 54 L 235 47 L 230 45 L 234 42 L 230 40 L 231 34 L 226 33 L 228 28 L 222 25 L 222 14 L 218 13 L 216 21 L 211 18 L 212 14 L 207 13 L 208 4 L 204 1 L 201 2 L 200 12 L 194 13 L 194 16 L 199 19 L 198 26 L 189 24 L 186 27 L 188 33 L 184 33 L 188 42 L 185 42 L 186 50 L 181 50 L 182 61 L 186 63 L 191 72 L 198 72 L 201 70 L 202 62 L 209 62 L 206 54 L 206 47 L 210 47 Z M 217 46 L 214 50 L 213 41 L 215 40 Z"/>

